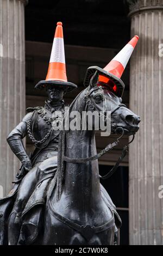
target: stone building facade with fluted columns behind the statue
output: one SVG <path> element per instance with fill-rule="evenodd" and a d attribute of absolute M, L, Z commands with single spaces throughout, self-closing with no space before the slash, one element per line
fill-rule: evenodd
<path fill-rule="evenodd" d="M 0 194 L 6 194 L 20 163 L 6 143 L 6 137 L 26 113 L 26 107 L 42 105 L 45 94 L 34 92 L 34 84 L 45 78 L 52 44 L 25 42 L 24 8 L 26 0 L 0 0 Z M 91 2 L 91 1 L 87 1 Z M 92 1 L 96 2 L 96 1 Z M 98 2 L 98 1 L 97 1 Z M 140 36 L 131 57 L 124 83 L 123 96 L 132 111 L 141 117 L 140 131 L 130 145 L 123 166 L 129 166 L 129 243 L 131 245 L 163 244 L 163 0 L 127 0 L 131 20 L 131 36 Z M 122 19 L 120 17 L 120 19 Z M 26 51 L 25 51 L 26 46 Z M 87 66 L 103 67 L 115 56 L 117 47 L 86 47 L 65 45 L 68 79 L 80 84 Z M 95 54 L 96 52 L 96 54 Z M 26 62 L 25 62 L 26 54 Z M 26 71 L 25 71 L 26 64 Z M 71 95 L 70 103 L 82 87 Z M 114 139 L 112 137 L 111 139 Z M 127 138 L 124 138 L 126 143 Z M 24 141 L 25 143 L 25 141 Z M 97 135 L 97 148 L 105 139 Z M 27 139 L 27 151 L 32 144 Z M 105 155 L 102 166 L 115 163 L 121 148 Z M 124 209 L 123 209 L 124 210 Z"/>

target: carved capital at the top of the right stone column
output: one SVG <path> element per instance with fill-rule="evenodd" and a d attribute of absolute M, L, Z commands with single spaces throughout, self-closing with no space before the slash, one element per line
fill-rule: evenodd
<path fill-rule="evenodd" d="M 129 17 L 137 13 L 142 13 L 143 11 L 163 11 L 162 0 L 126 0 L 125 2 L 128 4 L 129 7 Z"/>

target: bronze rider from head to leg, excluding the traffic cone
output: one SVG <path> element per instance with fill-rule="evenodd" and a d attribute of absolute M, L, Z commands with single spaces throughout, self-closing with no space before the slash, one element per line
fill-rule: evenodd
<path fill-rule="evenodd" d="M 31 209 L 40 204 L 41 219 L 45 192 L 57 169 L 59 131 L 52 129 L 52 122 L 58 121 L 55 111 L 64 111 L 64 89 L 50 85 L 46 91 L 48 99 L 45 106 L 28 108 L 27 115 L 7 138 L 11 150 L 22 162 L 22 167 L 16 175 L 12 190 L 6 198 L 0 200 L 0 244 L 17 245 L 23 227 L 23 211 L 27 207 Z M 30 157 L 22 142 L 27 134 L 35 145 Z M 53 169 L 50 161 L 52 156 Z M 36 222 L 40 222 L 39 214 Z"/>

